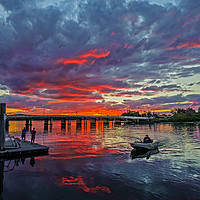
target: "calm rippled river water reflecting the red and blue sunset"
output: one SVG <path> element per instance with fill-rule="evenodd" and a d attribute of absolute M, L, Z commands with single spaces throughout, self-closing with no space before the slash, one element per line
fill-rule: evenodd
<path fill-rule="evenodd" d="M 20 137 L 24 124 L 11 122 L 10 134 Z M 78 127 L 72 122 L 61 131 L 55 122 L 48 133 L 43 122 L 33 127 L 49 155 L 4 162 L 0 199 L 200 199 L 198 123 Z M 160 142 L 159 153 L 133 159 L 130 142 L 146 134 Z"/>

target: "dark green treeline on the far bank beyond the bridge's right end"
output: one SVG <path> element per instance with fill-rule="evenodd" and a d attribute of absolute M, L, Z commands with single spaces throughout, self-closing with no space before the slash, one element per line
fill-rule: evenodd
<path fill-rule="evenodd" d="M 148 111 L 144 112 L 143 114 L 139 114 L 138 111 L 131 110 L 128 110 L 126 113 L 123 113 L 122 116 L 154 117 L 154 122 L 194 122 L 200 121 L 200 107 L 197 112 L 192 108 L 178 108 L 171 111 L 171 116 L 158 115 Z"/>

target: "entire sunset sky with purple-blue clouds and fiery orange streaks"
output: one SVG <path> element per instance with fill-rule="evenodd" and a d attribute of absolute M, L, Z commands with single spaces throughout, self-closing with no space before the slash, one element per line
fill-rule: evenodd
<path fill-rule="evenodd" d="M 200 107 L 199 0 L 1 0 L 10 114 Z"/>

